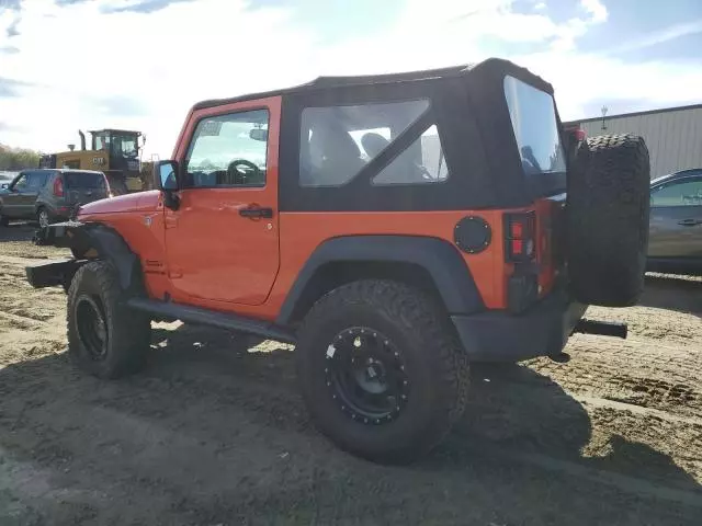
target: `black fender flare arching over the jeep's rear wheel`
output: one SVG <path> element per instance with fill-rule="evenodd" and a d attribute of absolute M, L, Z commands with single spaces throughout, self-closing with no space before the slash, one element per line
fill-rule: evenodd
<path fill-rule="evenodd" d="M 305 289 L 330 263 L 410 263 L 422 267 L 439 293 L 449 315 L 485 309 L 471 270 L 451 242 L 423 236 L 347 236 L 332 238 L 313 252 L 291 287 L 276 318 L 287 325 Z"/>

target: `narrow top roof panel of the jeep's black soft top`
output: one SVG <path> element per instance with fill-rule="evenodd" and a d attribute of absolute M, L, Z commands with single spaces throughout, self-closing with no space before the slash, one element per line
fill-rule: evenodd
<path fill-rule="evenodd" d="M 313 91 L 327 91 L 340 88 L 349 87 L 363 87 L 373 84 L 392 84 L 404 82 L 418 82 L 428 81 L 432 79 L 446 79 L 465 77 L 466 79 L 477 81 L 480 78 L 496 78 L 510 75 L 517 77 L 535 88 L 553 94 L 553 87 L 543 80 L 541 77 L 532 73 L 525 68 L 519 67 L 516 64 L 501 58 L 488 58 L 482 62 L 472 65 L 451 66 L 439 69 L 424 69 L 418 71 L 406 71 L 398 73 L 384 73 L 384 75 L 367 75 L 367 76 L 353 76 L 353 77 L 318 77 L 315 80 L 279 90 L 264 91 L 260 93 L 248 93 L 245 95 L 233 96 L 228 99 L 212 99 L 201 101 L 193 106 L 193 110 L 202 110 L 206 107 L 220 106 L 225 104 L 233 104 L 236 102 L 251 101 L 257 99 L 264 99 L 269 96 L 290 95 Z"/>

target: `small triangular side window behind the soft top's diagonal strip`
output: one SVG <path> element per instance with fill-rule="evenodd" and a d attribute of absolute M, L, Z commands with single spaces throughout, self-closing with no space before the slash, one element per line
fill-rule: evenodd
<path fill-rule="evenodd" d="M 397 156 L 375 175 L 371 183 L 430 184 L 441 183 L 449 178 L 449 168 L 441 148 L 437 125 L 432 125 L 409 148 Z"/>

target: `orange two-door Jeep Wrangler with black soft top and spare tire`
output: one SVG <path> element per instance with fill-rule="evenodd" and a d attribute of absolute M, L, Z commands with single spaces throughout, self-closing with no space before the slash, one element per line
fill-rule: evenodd
<path fill-rule="evenodd" d="M 439 443 L 473 362 L 625 338 L 582 316 L 643 289 L 644 141 L 565 129 L 501 59 L 201 102 L 154 175 L 37 231 L 73 254 L 26 268 L 66 288 L 70 356 L 135 371 L 152 320 L 294 343 L 318 428 L 375 461 Z"/>

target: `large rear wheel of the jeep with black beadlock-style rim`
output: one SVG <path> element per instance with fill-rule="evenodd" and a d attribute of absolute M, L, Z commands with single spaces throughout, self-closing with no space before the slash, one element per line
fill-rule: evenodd
<path fill-rule="evenodd" d="M 428 453 L 463 413 L 468 364 L 426 294 L 361 281 L 322 297 L 296 348 L 303 397 L 342 449 L 388 464 Z"/>

